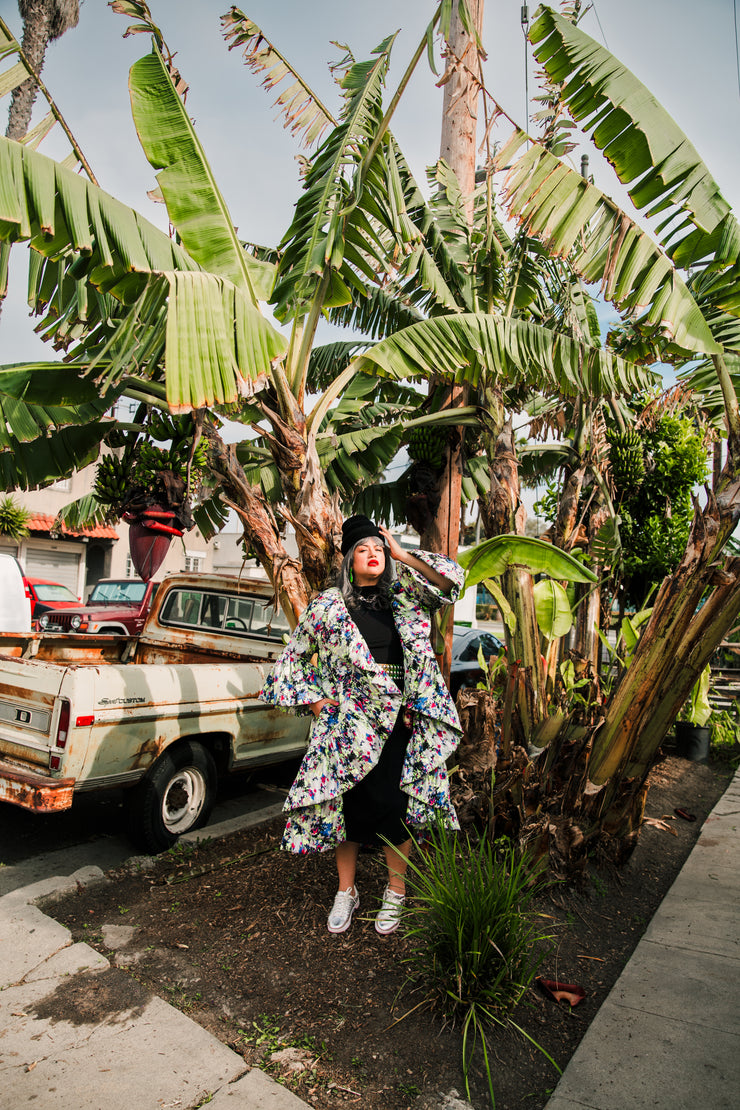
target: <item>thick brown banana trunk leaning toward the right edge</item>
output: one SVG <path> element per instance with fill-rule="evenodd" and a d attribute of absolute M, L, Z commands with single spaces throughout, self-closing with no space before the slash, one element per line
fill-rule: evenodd
<path fill-rule="evenodd" d="M 660 744 L 740 614 L 740 557 L 719 561 L 737 517 L 733 506 L 740 508 L 740 483 L 726 477 L 717 498 L 697 508 L 681 564 L 663 581 L 607 702 L 544 720 L 541 754 L 523 773 L 523 801 L 516 803 L 510 785 L 504 795 L 497 783 L 494 818 L 548 854 L 556 871 L 572 871 L 595 846 L 622 862 L 637 840 Z"/>

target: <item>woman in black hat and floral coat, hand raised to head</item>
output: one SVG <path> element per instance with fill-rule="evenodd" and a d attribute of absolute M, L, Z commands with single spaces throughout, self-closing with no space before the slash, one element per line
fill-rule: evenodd
<path fill-rule="evenodd" d="M 409 828 L 436 819 L 457 828 L 446 759 L 460 726 L 429 634 L 432 612 L 457 598 L 464 575 L 443 555 L 405 551 L 366 516 L 345 521 L 342 554 L 337 587 L 303 612 L 261 697 L 315 718 L 285 803 L 283 848 L 334 848 L 339 889 L 327 928 L 344 932 L 359 905 L 359 848 L 382 845 L 388 881 L 375 928 L 386 935 L 404 904 Z"/>

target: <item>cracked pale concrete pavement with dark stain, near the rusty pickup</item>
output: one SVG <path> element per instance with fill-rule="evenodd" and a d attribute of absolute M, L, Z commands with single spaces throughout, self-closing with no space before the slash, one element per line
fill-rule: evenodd
<path fill-rule="evenodd" d="M 225 836 L 281 808 L 231 817 L 184 839 Z M 125 858 L 120 845 L 88 845 L 0 872 L 8 891 L 0 897 L 0 1106 L 193 1110 L 209 1100 L 214 1110 L 306 1110 L 93 948 L 73 945 L 69 929 L 33 905 L 102 879 L 99 866 L 79 866 L 101 850 L 105 866 Z M 49 875 L 51 857 L 63 874 Z M 36 881 L 18 886 L 23 871 Z"/>

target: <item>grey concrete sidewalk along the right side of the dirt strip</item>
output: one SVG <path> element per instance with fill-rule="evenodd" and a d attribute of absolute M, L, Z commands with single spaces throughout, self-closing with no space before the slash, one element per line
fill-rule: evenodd
<path fill-rule="evenodd" d="M 740 771 L 546 1110 L 740 1107 Z"/>

